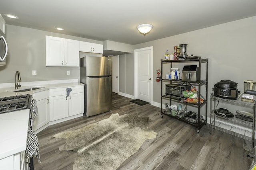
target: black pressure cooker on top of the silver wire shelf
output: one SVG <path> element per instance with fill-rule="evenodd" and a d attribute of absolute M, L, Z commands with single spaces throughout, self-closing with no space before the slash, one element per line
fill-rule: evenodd
<path fill-rule="evenodd" d="M 231 80 L 220 80 L 214 84 L 214 96 L 218 96 L 224 99 L 236 100 L 238 93 L 237 84 Z"/>

